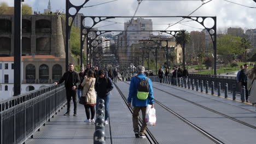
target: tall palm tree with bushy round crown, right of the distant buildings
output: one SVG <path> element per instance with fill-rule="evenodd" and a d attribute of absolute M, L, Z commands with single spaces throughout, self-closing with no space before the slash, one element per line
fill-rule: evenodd
<path fill-rule="evenodd" d="M 185 29 L 181 29 L 181 31 L 179 31 L 176 36 L 176 44 L 180 44 L 182 47 L 182 53 L 183 53 L 183 68 L 185 68 L 185 44 L 188 44 L 190 41 L 190 34 L 188 31 L 186 31 Z"/>

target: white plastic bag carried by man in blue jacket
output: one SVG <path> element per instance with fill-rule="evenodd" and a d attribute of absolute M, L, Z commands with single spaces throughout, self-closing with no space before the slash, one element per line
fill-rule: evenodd
<path fill-rule="evenodd" d="M 146 109 L 146 123 L 149 126 L 154 126 L 156 123 L 155 108 L 151 108 L 152 105 L 148 105 Z"/>

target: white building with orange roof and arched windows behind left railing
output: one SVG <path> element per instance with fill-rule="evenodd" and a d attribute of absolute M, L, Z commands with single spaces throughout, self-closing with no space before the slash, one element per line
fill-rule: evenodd
<path fill-rule="evenodd" d="M 53 85 L 65 72 L 65 59 L 51 55 L 21 57 L 21 93 Z M 25 68 L 25 69 L 24 69 Z M 14 94 L 14 57 L 0 57 L 0 100 Z"/>

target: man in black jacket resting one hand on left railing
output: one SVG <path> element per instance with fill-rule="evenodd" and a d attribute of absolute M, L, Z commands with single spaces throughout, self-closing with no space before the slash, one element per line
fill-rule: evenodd
<path fill-rule="evenodd" d="M 77 116 L 77 88 L 80 85 L 80 78 L 77 72 L 74 71 L 74 65 L 68 65 L 68 71 L 63 74 L 61 80 L 58 82 L 54 82 L 54 85 L 62 83 L 65 81 L 65 88 L 66 88 L 66 96 L 67 96 L 67 112 L 64 116 L 70 115 L 70 101 L 71 97 L 74 103 L 74 116 Z"/>

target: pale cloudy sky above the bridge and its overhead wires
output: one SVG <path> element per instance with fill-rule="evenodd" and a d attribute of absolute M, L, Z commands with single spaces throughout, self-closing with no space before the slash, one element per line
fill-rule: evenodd
<path fill-rule="evenodd" d="M 31 5 L 33 10 L 39 10 L 43 12 L 47 8 L 49 0 L 25 0 L 25 3 Z M 74 5 L 81 5 L 85 0 L 70 0 Z M 85 6 L 105 3 L 113 0 L 89 0 Z M 210 1 L 210 2 L 209 2 Z M 188 16 L 192 11 L 197 9 L 190 16 L 217 16 L 217 29 L 228 27 L 241 27 L 243 29 L 255 29 L 256 28 L 256 3 L 253 0 L 229 0 L 231 2 L 247 5 L 247 8 L 241 5 L 230 3 L 224 0 L 206 0 L 203 1 L 206 4 L 202 5 L 201 0 L 194 1 L 161 1 L 161 0 L 148 0 L 142 1 L 139 5 L 135 16 Z M 0 0 L 0 2 L 7 2 L 10 6 L 14 5 L 14 0 Z M 65 0 L 50 0 L 52 11 L 65 10 Z M 208 2 L 208 3 L 207 3 Z M 118 0 L 95 7 L 82 8 L 79 13 L 83 13 L 86 16 L 133 16 L 138 6 L 137 0 Z M 70 10 L 70 13 L 74 13 L 74 10 Z M 131 18 L 116 18 L 109 19 L 109 21 L 118 22 L 115 25 L 110 25 L 114 22 L 102 21 L 95 27 L 100 27 L 98 30 L 123 30 L 124 22 L 127 22 Z M 150 18 L 145 18 L 150 19 Z M 174 31 L 180 29 L 186 29 L 187 31 L 201 31 L 203 26 L 195 21 L 184 19 L 182 23 L 178 23 L 174 26 L 172 23 L 176 23 L 182 18 L 152 18 L 153 30 L 155 31 Z M 85 21 L 90 25 L 91 20 Z M 212 20 L 205 21 L 205 25 L 210 27 Z M 110 26 L 106 26 L 110 25 Z M 102 27 L 103 26 L 103 27 Z M 168 29 L 166 29 L 168 28 Z M 218 31 L 218 30 L 217 30 Z"/>

